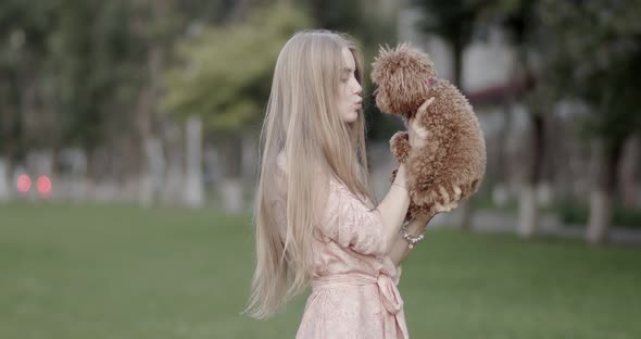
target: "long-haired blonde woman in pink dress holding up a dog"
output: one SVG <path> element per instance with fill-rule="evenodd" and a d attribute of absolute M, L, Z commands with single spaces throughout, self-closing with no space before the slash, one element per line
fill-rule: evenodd
<path fill-rule="evenodd" d="M 256 269 L 246 312 L 266 318 L 311 285 L 297 338 L 409 337 L 399 265 L 427 221 L 400 231 L 410 203 L 403 165 L 375 203 L 361 59 L 347 36 L 307 30 L 285 45 L 274 71 L 261 135 Z M 409 133 L 413 148 L 425 146 L 425 128 L 412 122 Z M 452 198 L 440 211 L 455 206 Z"/>

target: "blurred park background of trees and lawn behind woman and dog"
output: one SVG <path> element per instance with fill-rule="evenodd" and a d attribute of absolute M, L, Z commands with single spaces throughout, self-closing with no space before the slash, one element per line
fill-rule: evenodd
<path fill-rule="evenodd" d="M 468 97 L 488 168 L 399 289 L 413 338 L 641 337 L 641 2 L 0 2 L 0 338 L 293 338 L 239 313 L 257 136 L 305 28 L 409 41 Z"/>

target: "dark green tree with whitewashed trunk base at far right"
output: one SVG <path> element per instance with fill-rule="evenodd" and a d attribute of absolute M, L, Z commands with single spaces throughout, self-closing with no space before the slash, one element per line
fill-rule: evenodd
<path fill-rule="evenodd" d="M 551 48 L 544 68 L 562 98 L 588 106 L 581 133 L 595 141 L 596 172 L 587 239 L 607 238 L 625 141 L 641 130 L 641 25 L 638 1 L 542 1 Z"/>

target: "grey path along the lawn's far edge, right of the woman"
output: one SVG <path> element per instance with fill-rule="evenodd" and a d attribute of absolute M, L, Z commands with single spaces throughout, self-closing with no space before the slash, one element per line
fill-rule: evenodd
<path fill-rule="evenodd" d="M 431 221 L 430 227 L 445 227 L 452 225 L 456 217 L 458 216 L 455 212 L 439 214 Z M 515 233 L 516 222 L 516 215 L 513 214 L 476 210 L 473 212 L 470 229 L 479 231 Z M 585 239 L 586 227 L 564 225 L 556 216 L 541 215 L 539 219 L 539 234 Z M 609 229 L 608 241 L 612 243 L 641 244 L 641 230 L 614 227 Z"/>

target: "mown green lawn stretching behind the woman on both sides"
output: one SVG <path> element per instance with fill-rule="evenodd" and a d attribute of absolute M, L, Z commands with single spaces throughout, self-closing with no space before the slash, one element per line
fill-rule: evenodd
<path fill-rule="evenodd" d="M 641 338 L 641 249 L 431 230 L 399 286 L 412 338 Z M 0 338 L 293 338 L 305 296 L 239 315 L 248 216 L 0 205 Z"/>

